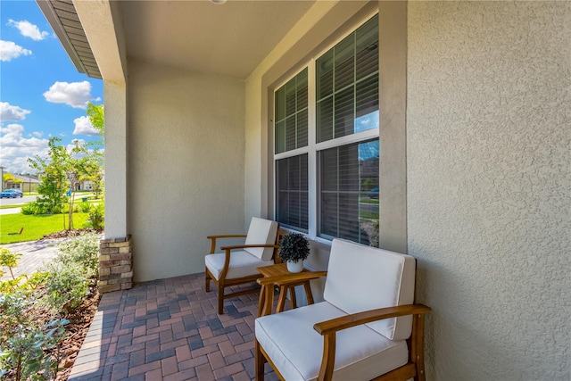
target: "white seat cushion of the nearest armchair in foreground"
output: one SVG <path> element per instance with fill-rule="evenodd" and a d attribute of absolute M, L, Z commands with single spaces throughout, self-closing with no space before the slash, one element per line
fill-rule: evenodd
<path fill-rule="evenodd" d="M 319 302 L 255 320 L 256 339 L 286 380 L 319 376 L 323 336 L 315 323 L 346 315 L 329 302 Z M 279 343 L 279 346 L 277 346 Z M 336 380 L 370 380 L 408 362 L 406 341 L 391 341 L 366 325 L 337 333 Z"/>

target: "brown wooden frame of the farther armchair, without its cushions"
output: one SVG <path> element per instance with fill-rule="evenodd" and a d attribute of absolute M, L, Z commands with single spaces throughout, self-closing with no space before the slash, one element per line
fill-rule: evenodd
<path fill-rule="evenodd" d="M 207 236 L 208 239 L 211 240 L 211 252 L 213 254 L 216 252 L 216 240 L 217 239 L 224 239 L 224 238 L 245 238 L 247 235 L 245 234 L 231 234 L 231 235 L 219 235 L 219 236 Z M 211 271 L 204 266 L 204 288 L 206 292 L 211 291 L 211 282 L 213 281 L 214 284 L 218 287 L 218 313 L 221 315 L 224 313 L 224 300 L 228 298 L 233 298 L 236 296 L 241 296 L 245 294 L 253 294 L 260 291 L 260 288 L 252 288 L 249 290 L 238 291 L 236 293 L 231 294 L 224 294 L 224 289 L 230 286 L 242 285 L 244 283 L 252 283 L 255 282 L 258 278 L 262 277 L 261 274 L 254 274 L 249 275 L 247 277 L 236 277 L 232 279 L 227 279 L 226 275 L 228 274 L 228 269 L 230 266 L 230 255 L 232 254 L 232 250 L 244 250 L 247 248 L 258 248 L 258 247 L 272 247 L 274 249 L 274 253 L 272 254 L 272 259 L 276 262 L 277 261 L 277 249 L 279 247 L 279 238 L 280 238 L 279 226 L 277 227 L 277 234 L 276 234 L 276 244 L 236 244 L 232 246 L 223 246 L 220 247 L 220 250 L 224 251 L 224 268 L 220 272 L 219 279 L 216 279 L 214 275 L 212 275 Z"/>

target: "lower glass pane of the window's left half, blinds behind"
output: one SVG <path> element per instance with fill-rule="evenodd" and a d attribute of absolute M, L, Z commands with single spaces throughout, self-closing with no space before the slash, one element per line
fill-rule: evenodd
<path fill-rule="evenodd" d="M 285 227 L 308 229 L 308 155 L 276 162 L 277 221 Z"/>

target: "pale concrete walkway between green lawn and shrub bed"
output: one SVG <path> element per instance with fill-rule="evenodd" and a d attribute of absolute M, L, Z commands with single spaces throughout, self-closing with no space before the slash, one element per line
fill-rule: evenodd
<path fill-rule="evenodd" d="M 22 256 L 18 260 L 18 267 L 12 269 L 14 277 L 21 274 L 31 275 L 40 269 L 44 263 L 52 261 L 57 253 L 57 244 L 67 238 L 40 239 L 37 241 L 19 242 L 17 244 L 0 244 L 0 247 L 8 248 L 12 253 L 21 253 Z M 10 271 L 3 269 L 4 276 L 1 280 L 12 279 Z"/>

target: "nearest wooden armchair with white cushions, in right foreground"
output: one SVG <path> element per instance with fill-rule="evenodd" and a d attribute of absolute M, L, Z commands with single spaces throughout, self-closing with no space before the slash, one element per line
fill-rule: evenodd
<path fill-rule="evenodd" d="M 410 255 L 335 239 L 325 301 L 256 319 L 256 380 L 267 361 L 285 380 L 424 380 L 431 310 L 413 303 L 414 287 Z"/>

